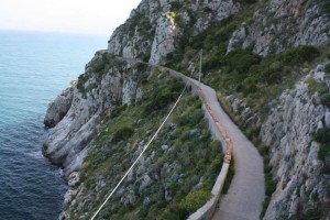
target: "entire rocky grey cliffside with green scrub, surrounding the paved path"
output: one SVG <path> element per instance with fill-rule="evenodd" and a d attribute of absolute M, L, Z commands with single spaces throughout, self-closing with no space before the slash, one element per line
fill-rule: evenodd
<path fill-rule="evenodd" d="M 170 84 L 163 88 L 162 80 L 169 80 L 164 73 L 136 61 L 187 74 L 188 66 L 197 66 L 194 58 L 204 48 L 202 80 L 219 92 L 233 120 L 265 156 L 268 197 L 264 219 L 330 218 L 329 140 L 324 138 L 330 136 L 329 7 L 327 0 L 142 0 L 113 32 L 108 48 L 96 53 L 86 73 L 47 110 L 45 124 L 54 128 L 44 143 L 44 154 L 69 176 L 62 217 L 89 217 L 87 210 L 96 208 L 113 179 L 141 151 L 143 143 L 136 140 L 150 138 L 148 114 L 161 118 L 161 109 L 177 92 Z M 135 118 L 127 118 L 130 114 Z M 153 219 L 163 215 L 163 219 L 184 219 L 187 209 L 182 213 L 177 207 L 184 205 L 178 204 L 194 190 L 211 185 L 199 172 L 217 167 L 219 160 L 195 163 L 194 156 L 210 158 L 210 152 L 189 144 L 178 147 L 205 129 L 194 130 L 185 117 L 173 119 L 167 129 L 179 132 L 165 135 L 158 143 L 162 151 L 152 153 L 160 156 L 163 152 L 168 157 L 144 158 L 125 186 L 130 194 L 121 191 L 123 197 L 117 197 L 117 206 L 107 209 L 105 218 Z M 117 133 L 121 129 L 122 133 Z M 212 145 L 210 140 L 206 143 Z M 215 144 L 212 147 L 216 151 Z M 189 160 L 184 156 L 187 153 Z M 182 161 L 163 163 L 174 155 Z M 147 169 L 152 163 L 157 165 Z M 187 173 L 189 163 L 199 167 L 196 173 Z M 152 206 L 155 201 L 162 202 Z M 177 207 L 168 205 L 174 201 Z"/>

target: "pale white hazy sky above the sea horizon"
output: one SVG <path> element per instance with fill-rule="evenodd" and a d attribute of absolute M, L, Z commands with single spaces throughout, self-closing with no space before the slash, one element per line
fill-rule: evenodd
<path fill-rule="evenodd" d="M 110 35 L 141 0 L 0 0 L 0 30 Z"/>

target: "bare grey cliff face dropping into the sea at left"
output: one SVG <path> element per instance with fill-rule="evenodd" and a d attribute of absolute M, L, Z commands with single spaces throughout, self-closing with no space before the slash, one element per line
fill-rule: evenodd
<path fill-rule="evenodd" d="M 50 105 L 45 123 L 56 127 L 51 130 L 43 151 L 53 163 L 65 168 L 66 176 L 80 169 L 102 113 L 139 100 L 133 64 L 98 52 L 78 81 Z"/>

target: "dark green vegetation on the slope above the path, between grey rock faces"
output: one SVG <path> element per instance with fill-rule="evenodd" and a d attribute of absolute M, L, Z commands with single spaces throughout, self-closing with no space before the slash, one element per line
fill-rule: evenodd
<path fill-rule="evenodd" d="M 254 1 L 248 0 L 244 3 L 254 3 Z M 252 11 L 246 9 L 218 24 L 212 24 L 197 36 L 189 40 L 184 37 L 180 47 L 168 54 L 166 65 L 188 75 L 190 73 L 187 73 L 186 67 L 190 61 L 196 62 L 196 54 L 202 48 L 205 54 L 202 59 L 204 82 L 221 92 L 222 96 L 234 95 L 241 99 L 244 98 L 251 112 L 258 112 L 264 120 L 268 116 L 267 103 L 278 97 L 283 90 L 293 88 L 297 79 L 304 75 L 301 67 L 310 67 L 321 56 L 321 52 L 317 47 L 304 45 L 266 57 L 254 54 L 252 47 L 227 53 L 233 31 L 242 22 L 249 22 L 252 16 Z M 186 32 L 188 31 L 186 30 Z M 322 103 L 329 105 L 330 99 L 323 92 L 326 91 L 323 84 L 311 82 L 309 90 L 322 92 Z M 223 101 L 222 106 L 226 108 Z M 261 144 L 260 128 L 255 124 L 246 125 L 241 118 L 241 111 L 233 113 L 231 108 L 227 108 L 227 112 L 233 121 L 240 125 L 264 156 L 266 182 L 264 215 L 271 196 L 276 189 L 276 182 L 273 179 L 272 166 L 270 166 L 268 148 Z"/>

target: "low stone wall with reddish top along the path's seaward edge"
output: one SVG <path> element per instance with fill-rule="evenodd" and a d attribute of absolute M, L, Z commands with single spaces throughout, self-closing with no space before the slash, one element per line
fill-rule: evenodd
<path fill-rule="evenodd" d="M 191 213 L 188 217 L 188 220 L 211 219 L 216 211 L 216 208 L 217 208 L 220 195 L 221 195 L 221 190 L 222 190 L 222 187 L 223 187 L 227 174 L 228 174 L 229 165 L 231 162 L 232 148 L 233 148 L 232 141 L 230 140 L 224 128 L 221 125 L 220 120 L 217 118 L 217 116 L 215 114 L 210 105 L 208 103 L 208 100 L 207 100 L 204 91 L 198 87 L 198 85 L 193 79 L 190 79 L 189 77 L 187 77 L 178 72 L 175 72 L 173 69 L 162 67 L 162 66 L 156 66 L 156 67 L 158 67 L 160 69 L 168 70 L 172 76 L 178 77 L 178 78 L 183 79 L 186 84 L 191 86 L 193 91 L 195 91 L 195 94 L 197 94 L 199 96 L 199 98 L 204 105 L 204 111 L 205 111 L 207 119 L 209 120 L 209 125 L 211 128 L 213 128 L 213 129 L 211 129 L 212 134 L 217 138 L 220 138 L 220 141 L 223 141 L 226 144 L 226 155 L 223 158 L 223 164 L 222 164 L 221 170 L 218 175 L 217 182 L 213 185 L 213 188 L 211 191 L 212 197 L 201 208 L 199 208 L 197 211 L 195 211 L 194 213 Z M 219 136 L 219 134 L 220 134 L 220 136 Z"/>

